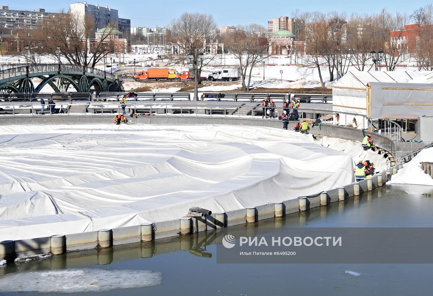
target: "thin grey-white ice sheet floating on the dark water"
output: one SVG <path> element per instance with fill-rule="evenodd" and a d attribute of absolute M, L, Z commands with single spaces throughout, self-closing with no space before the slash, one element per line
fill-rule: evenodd
<path fill-rule="evenodd" d="M 8 273 L 1 279 L 0 292 L 88 293 L 157 286 L 162 273 L 87 268 Z"/>

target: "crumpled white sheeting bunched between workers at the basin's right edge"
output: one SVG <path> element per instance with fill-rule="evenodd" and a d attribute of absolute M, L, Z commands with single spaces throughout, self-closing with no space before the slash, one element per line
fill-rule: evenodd
<path fill-rule="evenodd" d="M 315 129 L 316 127 L 314 127 Z M 349 154 L 353 158 L 353 166 L 355 167 L 359 161 L 369 160 L 375 164 L 376 173 L 383 172 L 389 169 L 390 162 L 388 158 L 383 158 L 379 151 L 372 151 L 371 149 L 364 151 L 361 142 L 344 140 L 340 138 L 329 138 L 324 136 L 319 141 L 320 145 L 329 147 L 343 153 Z"/>

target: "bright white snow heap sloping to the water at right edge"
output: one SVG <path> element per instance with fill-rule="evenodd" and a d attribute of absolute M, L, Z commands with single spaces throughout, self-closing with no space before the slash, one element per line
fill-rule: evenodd
<path fill-rule="evenodd" d="M 433 162 L 433 147 L 423 149 L 411 161 L 403 164 L 387 184 L 416 184 L 433 186 L 433 178 L 421 170 L 421 162 Z"/>

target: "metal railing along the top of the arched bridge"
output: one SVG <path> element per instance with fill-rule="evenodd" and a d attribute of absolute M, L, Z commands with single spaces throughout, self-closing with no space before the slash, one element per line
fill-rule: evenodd
<path fill-rule="evenodd" d="M 12 78 L 19 75 L 25 75 L 30 73 L 41 73 L 41 72 L 55 72 L 55 71 L 74 71 L 74 72 L 85 72 L 92 73 L 100 76 L 107 77 L 115 80 L 115 75 L 103 71 L 98 68 L 92 68 L 89 66 L 80 66 L 74 64 L 29 64 L 29 65 L 2 65 L 0 71 L 0 79 Z"/>

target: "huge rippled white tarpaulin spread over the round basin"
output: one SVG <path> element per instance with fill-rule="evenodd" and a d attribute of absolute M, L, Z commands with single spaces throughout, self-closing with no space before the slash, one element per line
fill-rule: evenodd
<path fill-rule="evenodd" d="M 346 185 L 350 155 L 237 125 L 0 127 L 0 240 L 178 219 Z"/>

